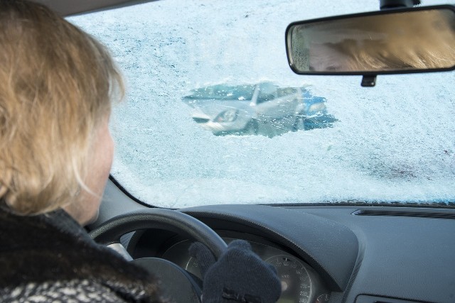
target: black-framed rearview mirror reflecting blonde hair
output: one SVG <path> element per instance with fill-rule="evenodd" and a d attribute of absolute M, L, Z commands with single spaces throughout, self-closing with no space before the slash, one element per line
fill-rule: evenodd
<path fill-rule="evenodd" d="M 291 23 L 287 56 L 301 75 L 455 69 L 455 6 L 377 11 Z"/>

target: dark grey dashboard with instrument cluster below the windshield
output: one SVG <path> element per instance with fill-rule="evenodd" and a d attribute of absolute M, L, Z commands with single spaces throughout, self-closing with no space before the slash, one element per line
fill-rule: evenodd
<path fill-rule="evenodd" d="M 279 303 L 455 302 L 454 209 L 218 205 L 180 211 L 226 242 L 249 241 L 277 268 Z M 200 277 L 185 234 L 150 229 L 122 242 L 134 258 L 165 258 Z"/>

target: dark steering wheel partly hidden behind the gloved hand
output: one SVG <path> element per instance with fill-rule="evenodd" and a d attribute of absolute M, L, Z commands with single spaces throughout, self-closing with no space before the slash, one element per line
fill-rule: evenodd
<path fill-rule="evenodd" d="M 90 236 L 97 243 L 105 246 L 114 245 L 117 246 L 117 249 L 120 246 L 120 249 L 122 249 L 123 246 L 120 244 L 121 236 L 146 228 L 164 229 L 193 238 L 193 240 L 207 246 L 217 260 L 228 247 L 225 241 L 210 227 L 192 216 L 171 209 L 142 209 L 122 214 L 92 230 Z M 202 294 L 200 282 L 197 282 L 183 268 L 161 258 L 139 258 L 133 260 L 124 248 L 121 253 L 127 260 L 132 260 L 131 262 L 159 277 L 162 285 L 164 285 L 164 296 L 168 297 L 168 299 L 176 303 L 200 303 Z"/>

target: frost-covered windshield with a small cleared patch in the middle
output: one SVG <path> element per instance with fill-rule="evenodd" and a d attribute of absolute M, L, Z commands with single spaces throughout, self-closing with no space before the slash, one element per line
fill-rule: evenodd
<path fill-rule="evenodd" d="M 444 4 L 422 0 L 423 5 Z M 162 0 L 68 20 L 111 50 L 112 176 L 150 205 L 455 200 L 454 72 L 299 76 L 293 21 L 379 1 Z"/>

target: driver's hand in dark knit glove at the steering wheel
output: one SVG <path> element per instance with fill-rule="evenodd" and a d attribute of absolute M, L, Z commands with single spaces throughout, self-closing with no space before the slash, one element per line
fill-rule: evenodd
<path fill-rule="evenodd" d="M 277 270 L 253 253 L 247 241 L 232 241 L 218 261 L 202 243 L 193 243 L 189 251 L 203 275 L 203 303 L 274 303 L 279 299 L 282 285 Z"/>

